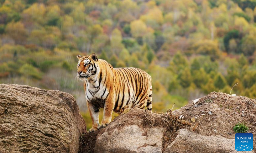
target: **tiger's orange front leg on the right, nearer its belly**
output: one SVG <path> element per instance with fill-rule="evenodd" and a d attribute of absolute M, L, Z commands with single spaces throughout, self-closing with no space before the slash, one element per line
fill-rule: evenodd
<path fill-rule="evenodd" d="M 103 119 L 101 120 L 100 128 L 105 128 L 112 118 L 113 109 L 115 106 L 115 99 L 113 94 L 109 94 L 104 104 Z"/>

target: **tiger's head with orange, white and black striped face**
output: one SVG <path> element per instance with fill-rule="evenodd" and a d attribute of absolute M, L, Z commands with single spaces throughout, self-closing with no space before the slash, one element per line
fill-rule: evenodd
<path fill-rule="evenodd" d="M 93 53 L 90 56 L 77 55 L 76 57 L 79 60 L 77 64 L 77 77 L 84 80 L 98 76 L 100 69 L 97 55 Z"/>

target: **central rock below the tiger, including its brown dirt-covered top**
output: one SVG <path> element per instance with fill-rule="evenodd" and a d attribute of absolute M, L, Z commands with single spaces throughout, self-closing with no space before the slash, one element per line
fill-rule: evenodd
<path fill-rule="evenodd" d="M 98 134 L 94 153 L 161 153 L 165 128 L 157 126 L 143 127 L 143 119 L 141 117 L 145 117 L 144 112 L 144 110 L 133 109 L 122 116 L 118 116 L 108 125 L 106 131 Z M 150 116 L 146 116 L 148 119 L 150 118 Z M 119 121 L 122 125 L 120 125 Z M 125 125 L 127 122 L 129 122 L 129 125 Z"/>

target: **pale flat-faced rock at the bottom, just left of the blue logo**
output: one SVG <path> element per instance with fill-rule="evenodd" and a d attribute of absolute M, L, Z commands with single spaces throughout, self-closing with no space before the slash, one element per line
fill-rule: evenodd
<path fill-rule="evenodd" d="M 221 143 L 220 143 L 221 142 Z M 187 129 L 178 130 L 176 139 L 165 149 L 164 153 L 229 153 L 234 151 L 235 139 L 220 135 L 204 136 Z"/>

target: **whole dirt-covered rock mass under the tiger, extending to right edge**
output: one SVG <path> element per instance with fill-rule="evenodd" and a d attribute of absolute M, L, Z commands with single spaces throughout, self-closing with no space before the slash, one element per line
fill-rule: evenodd
<path fill-rule="evenodd" d="M 212 92 L 173 112 L 134 108 L 117 116 L 106 128 L 84 135 L 80 151 L 237 152 L 233 127 L 239 122 L 256 134 L 256 100 Z"/>

